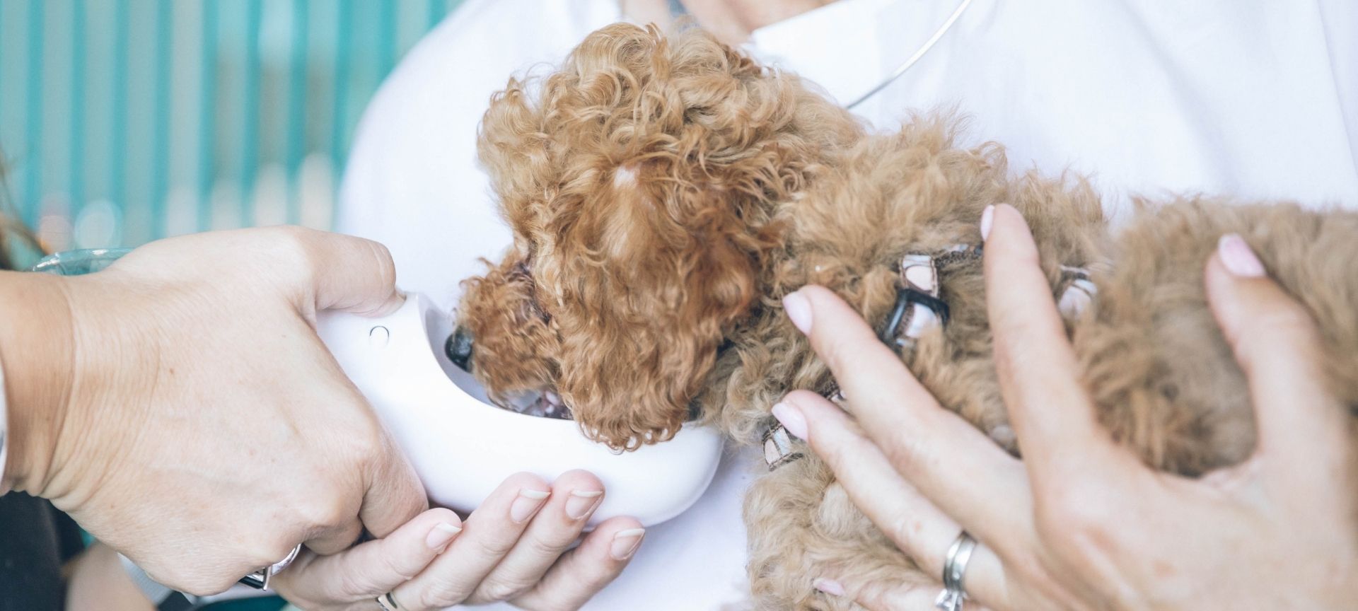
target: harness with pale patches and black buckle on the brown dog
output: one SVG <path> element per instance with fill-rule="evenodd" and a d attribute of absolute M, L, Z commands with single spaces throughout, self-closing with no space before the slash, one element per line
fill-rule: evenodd
<path fill-rule="evenodd" d="M 896 354 L 913 350 L 925 331 L 934 326 L 947 326 L 949 319 L 948 301 L 941 297 L 940 270 L 959 262 L 980 259 L 982 246 L 953 244 L 937 254 L 909 253 L 900 258 L 896 304 L 887 314 L 877 331 L 877 338 L 891 346 Z M 1077 316 L 1093 300 L 1097 286 L 1089 280 L 1085 267 L 1061 266 L 1061 299 L 1058 308 L 1066 318 Z M 843 403 L 845 396 L 834 380 L 820 392 L 834 403 Z M 771 420 L 763 433 L 765 462 L 773 471 L 803 456 L 796 437 L 788 433 L 777 420 Z"/>

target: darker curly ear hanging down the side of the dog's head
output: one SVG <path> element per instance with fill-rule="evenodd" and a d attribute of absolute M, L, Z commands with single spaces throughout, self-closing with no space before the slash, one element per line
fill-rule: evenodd
<path fill-rule="evenodd" d="M 619 167 L 536 266 L 559 296 L 558 391 L 592 439 L 631 449 L 672 437 L 727 331 L 754 304 L 773 240 L 735 196 L 675 191 L 657 167 Z"/>

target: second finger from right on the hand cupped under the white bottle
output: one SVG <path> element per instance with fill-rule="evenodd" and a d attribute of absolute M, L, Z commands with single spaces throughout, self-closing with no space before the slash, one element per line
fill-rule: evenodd
<path fill-rule="evenodd" d="M 527 592 L 576 542 L 603 496 L 603 482 L 591 473 L 566 471 L 557 478 L 547 504 L 509 554 L 481 581 L 467 604 L 497 603 Z"/>

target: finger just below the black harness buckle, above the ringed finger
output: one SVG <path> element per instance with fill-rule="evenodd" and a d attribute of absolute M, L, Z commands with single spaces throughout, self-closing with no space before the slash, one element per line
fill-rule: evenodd
<path fill-rule="evenodd" d="M 1009 508 L 1028 502 L 1023 466 L 941 409 L 862 318 L 830 291 L 805 286 L 789 295 L 784 307 L 793 320 L 807 318 L 812 348 L 891 464 L 968 531 L 983 538 L 1006 534 L 1004 539 L 1013 540 L 1021 512 Z"/>

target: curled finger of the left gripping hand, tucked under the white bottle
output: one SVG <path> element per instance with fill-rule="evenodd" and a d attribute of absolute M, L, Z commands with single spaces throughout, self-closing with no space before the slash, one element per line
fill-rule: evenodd
<path fill-rule="evenodd" d="M 387 536 L 401 524 L 429 508 L 424 485 L 390 436 L 383 434 L 382 451 L 368 470 L 367 490 L 359 519 L 376 538 Z"/>

